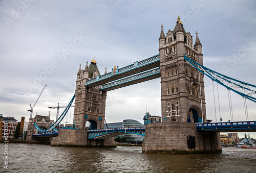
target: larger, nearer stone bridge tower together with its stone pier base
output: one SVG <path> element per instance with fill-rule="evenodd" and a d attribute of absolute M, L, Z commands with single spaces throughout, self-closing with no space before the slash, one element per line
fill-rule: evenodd
<path fill-rule="evenodd" d="M 162 122 L 146 124 L 142 153 L 221 152 L 220 134 L 200 133 L 197 122 L 206 122 L 203 74 L 184 55 L 203 65 L 202 44 L 195 45 L 180 16 L 173 31 L 159 38 Z"/>

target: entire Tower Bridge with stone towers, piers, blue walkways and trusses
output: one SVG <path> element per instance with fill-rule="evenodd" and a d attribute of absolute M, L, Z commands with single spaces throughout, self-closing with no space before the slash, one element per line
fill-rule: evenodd
<path fill-rule="evenodd" d="M 111 72 L 105 71 L 104 75 L 100 75 L 95 59 L 84 69 L 80 65 L 74 95 L 75 127 L 60 129 L 51 145 L 115 147 L 115 133 L 137 133 L 145 135 L 143 153 L 221 152 L 219 132 L 222 130 L 238 130 L 239 127 L 244 131 L 255 130 L 255 121 L 250 121 L 250 126 L 237 126 L 234 122 L 232 125 L 206 123 L 204 75 L 251 101 L 255 100 L 256 86 L 204 67 L 198 32 L 194 44 L 193 37 L 185 32 L 178 17 L 175 28 L 168 30 L 166 35 L 161 26 L 158 41 L 159 54 L 123 68 L 115 66 Z M 161 79 L 162 122 L 148 123 L 145 129 L 129 131 L 103 129 L 107 91 L 155 78 Z M 86 129 L 87 122 L 91 123 L 91 130 Z M 49 130 L 53 129 L 54 126 Z M 46 131 L 41 132 L 44 135 Z"/>

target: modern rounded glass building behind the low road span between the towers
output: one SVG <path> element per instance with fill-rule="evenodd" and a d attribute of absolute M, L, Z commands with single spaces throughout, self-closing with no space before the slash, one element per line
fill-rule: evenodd
<path fill-rule="evenodd" d="M 106 125 L 108 125 L 108 128 L 137 128 L 137 127 L 145 127 L 141 122 L 134 120 L 134 119 L 124 119 L 123 122 L 113 122 L 113 123 L 107 123 L 104 125 L 104 128 L 106 129 Z M 141 135 L 135 135 L 135 134 L 124 134 L 119 135 L 117 137 L 125 137 L 127 140 L 127 143 L 142 143 L 145 139 L 144 136 Z"/>

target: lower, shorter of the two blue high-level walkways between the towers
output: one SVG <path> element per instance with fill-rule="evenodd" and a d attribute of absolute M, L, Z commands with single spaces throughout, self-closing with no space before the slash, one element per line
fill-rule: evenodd
<path fill-rule="evenodd" d="M 160 78 L 160 77 L 161 77 L 160 68 L 156 68 L 150 71 L 139 73 L 137 75 L 134 75 L 128 78 L 124 78 L 118 81 L 101 85 L 100 90 L 110 91 L 117 88 L 138 84 L 140 82 L 145 82 L 145 81 Z"/>

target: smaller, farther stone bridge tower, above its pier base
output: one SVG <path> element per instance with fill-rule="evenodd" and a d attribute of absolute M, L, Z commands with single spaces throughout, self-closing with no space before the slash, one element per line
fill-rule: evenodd
<path fill-rule="evenodd" d="M 87 80 L 100 76 L 100 72 L 93 59 L 88 67 L 80 68 L 77 73 L 75 91 L 75 128 L 85 129 L 86 122 L 91 123 L 90 129 L 104 129 L 106 91 L 100 91 L 99 86 L 87 88 L 84 86 Z"/>

